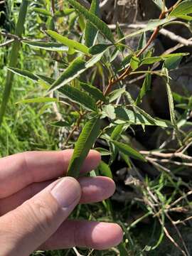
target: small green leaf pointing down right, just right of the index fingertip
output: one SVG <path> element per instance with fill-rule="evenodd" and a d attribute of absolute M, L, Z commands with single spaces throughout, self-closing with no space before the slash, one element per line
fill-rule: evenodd
<path fill-rule="evenodd" d="M 131 146 L 124 144 L 122 142 L 116 142 L 114 140 L 112 140 L 112 144 L 114 144 L 114 146 L 117 146 L 117 149 L 119 149 L 120 152 L 122 152 L 123 154 L 132 157 L 133 159 L 139 159 L 142 161 L 146 161 L 144 159 L 144 156 L 142 156 L 142 154 L 140 154 L 137 150 L 133 149 Z"/>

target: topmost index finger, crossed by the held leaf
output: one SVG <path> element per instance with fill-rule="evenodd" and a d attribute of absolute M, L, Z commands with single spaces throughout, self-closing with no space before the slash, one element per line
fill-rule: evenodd
<path fill-rule="evenodd" d="M 31 183 L 48 181 L 66 174 L 73 150 L 28 151 L 0 159 L 0 198 L 11 196 Z M 91 150 L 81 172 L 95 169 L 100 154 Z"/>

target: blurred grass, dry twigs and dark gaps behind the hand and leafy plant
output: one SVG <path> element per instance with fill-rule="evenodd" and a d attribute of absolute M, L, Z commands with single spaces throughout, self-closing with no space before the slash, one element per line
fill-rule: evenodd
<path fill-rule="evenodd" d="M 64 11 L 58 17 L 58 26 L 65 35 L 77 35 L 77 27 L 81 33 L 84 25 L 83 18 L 78 18 L 75 12 L 65 14 L 65 1 L 56 1 L 56 9 Z M 89 6 L 91 1 L 80 1 Z M 172 6 L 176 1 L 167 1 Z M 0 1 L 1 43 L 10 39 L 9 33 L 14 34 L 21 5 L 19 0 Z M 24 38 L 44 38 L 44 33 L 51 25 L 51 17 L 41 14 L 35 8 L 50 9 L 49 0 L 29 1 L 26 16 Z M 110 0 L 100 1 L 101 18 L 114 28 L 119 21 L 125 34 L 141 27 L 151 18 L 159 17 L 159 9 L 154 1 L 142 0 Z M 190 24 L 191 26 L 191 24 Z M 192 155 L 192 65 L 191 47 L 182 44 L 178 37 L 191 40 L 190 26 L 169 26 L 168 32 L 160 33 L 154 41 L 156 55 L 162 53 L 187 52 L 190 55 L 183 58 L 180 66 L 171 72 L 171 89 L 174 92 L 176 115 L 179 128 L 185 137 L 185 147 L 178 151 L 174 134 L 169 129 L 159 127 L 133 127 L 123 136 L 131 140 L 139 150 L 150 151 L 166 149 L 172 152 L 183 152 L 189 156 L 184 161 L 179 156 L 151 156 L 157 159 L 155 164 L 134 161 L 132 166 L 117 158 L 112 164 L 112 174 L 117 190 L 110 199 L 98 204 L 78 206 L 73 213 L 74 218 L 90 220 L 114 221 L 124 229 L 124 242 L 117 248 L 108 251 L 92 251 L 71 249 L 55 252 L 36 252 L 34 255 L 192 255 L 192 222 L 191 222 L 191 171 Z M 171 32 L 171 33 L 170 33 Z M 174 35 L 174 36 L 173 36 Z M 149 35 L 150 36 L 150 33 Z M 5 38 L 6 37 L 6 38 Z M 137 48 L 138 38 L 130 40 L 129 46 Z M 6 79 L 11 45 L 0 47 L 0 99 Z M 60 55 L 48 53 L 46 50 L 36 50 L 22 44 L 18 58 L 18 68 L 34 73 L 55 76 L 60 68 L 65 67 L 66 59 L 60 61 Z M 156 67 L 154 67 L 156 68 Z M 97 83 L 101 81 L 98 78 Z M 125 81 L 129 92 L 136 98 L 143 78 L 132 78 Z M 65 112 L 63 107 L 55 108 L 53 103 L 16 105 L 19 100 L 41 96 L 45 90 L 41 83 L 34 83 L 19 76 L 14 77 L 13 90 L 0 128 L 0 156 L 7 156 L 29 150 L 58 150 L 63 149 L 63 143 L 68 137 L 69 129 L 53 127 L 50 123 L 63 117 L 75 117 L 75 112 Z M 169 106 L 166 90 L 160 78 L 153 77 L 151 91 L 144 97 L 142 108 L 152 116 L 169 119 Z M 78 134 L 73 138 L 74 141 Z M 101 146 L 103 142 L 98 142 Z M 73 142 L 69 145 L 73 146 Z M 171 153 L 170 153 L 171 154 Z M 104 158 L 105 160 L 105 158 Z M 163 161 L 168 160 L 168 161 Z M 174 174 L 171 175 L 170 174 Z M 110 231 L 109 231 L 110 232 Z"/>

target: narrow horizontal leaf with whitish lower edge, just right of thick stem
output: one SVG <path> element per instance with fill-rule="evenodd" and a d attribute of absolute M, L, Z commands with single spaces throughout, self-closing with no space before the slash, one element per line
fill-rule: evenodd
<path fill-rule="evenodd" d="M 43 50 L 51 50 L 51 51 L 68 51 L 68 46 L 63 46 L 63 43 L 54 43 L 54 42 L 37 42 L 37 41 L 22 41 L 28 46 L 32 46 L 33 48 L 43 49 Z"/>

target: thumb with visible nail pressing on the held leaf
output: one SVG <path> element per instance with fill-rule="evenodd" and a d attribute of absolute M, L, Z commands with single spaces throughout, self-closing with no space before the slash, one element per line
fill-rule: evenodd
<path fill-rule="evenodd" d="M 80 184 L 75 178 L 61 178 L 2 216 L 0 255 L 30 255 L 68 218 L 80 196 Z"/>

